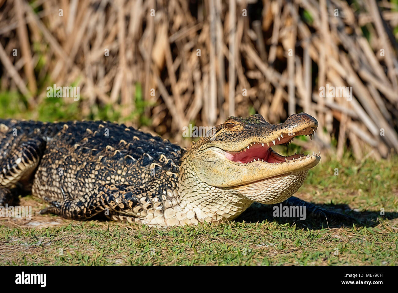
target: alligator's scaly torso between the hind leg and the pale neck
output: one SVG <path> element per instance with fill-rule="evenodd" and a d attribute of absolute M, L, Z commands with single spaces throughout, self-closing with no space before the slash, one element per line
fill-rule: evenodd
<path fill-rule="evenodd" d="M 45 150 L 39 158 L 32 191 L 50 203 L 92 199 L 95 196 L 90 193 L 103 192 L 107 196 L 101 201 L 107 201 L 109 209 L 123 209 L 125 212 L 119 214 L 142 217 L 144 209 L 155 205 L 163 211 L 159 204 L 175 197 L 167 191 L 177 189 L 185 149 L 166 139 L 106 121 L 43 123 L 11 119 L 0 123 L 8 131 L 17 129 L 18 136 L 34 134 L 42 138 Z M 11 135 L 8 138 L 13 140 Z M 5 144 L 6 139 L 0 147 Z M 113 189 L 119 192 L 117 200 Z M 121 207 L 120 200 L 124 201 Z"/>

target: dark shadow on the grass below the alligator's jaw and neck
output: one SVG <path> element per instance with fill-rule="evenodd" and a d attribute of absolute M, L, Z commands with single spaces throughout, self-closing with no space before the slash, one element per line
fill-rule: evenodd
<path fill-rule="evenodd" d="M 279 205 L 279 204 L 277 204 Z M 246 223 L 257 223 L 268 220 L 269 222 L 277 222 L 280 224 L 290 223 L 291 225 L 296 224 L 296 227 L 300 229 L 323 229 L 323 228 L 341 228 L 341 227 L 374 227 L 380 222 L 379 219 L 396 219 L 398 218 L 398 213 L 395 212 L 385 212 L 385 215 L 381 216 L 379 211 L 362 211 L 356 212 L 351 210 L 348 205 L 345 204 L 317 204 L 317 206 L 331 211 L 336 211 L 349 215 L 353 219 L 326 219 L 317 218 L 312 215 L 307 215 L 305 220 L 300 220 L 299 217 L 274 217 L 273 207 L 275 205 L 263 205 L 261 203 L 253 203 L 246 211 L 242 213 L 234 221 Z"/>

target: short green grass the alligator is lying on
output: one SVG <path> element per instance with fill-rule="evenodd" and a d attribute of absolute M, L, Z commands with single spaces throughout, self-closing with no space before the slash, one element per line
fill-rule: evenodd
<path fill-rule="evenodd" d="M 32 221 L 60 225 L 27 228 L 26 223 L 0 219 L 0 264 L 396 265 L 397 182 L 397 156 L 363 164 L 349 157 L 341 162 L 324 157 L 310 170 L 297 195 L 348 211 L 361 224 L 273 218 L 264 205 L 250 207 L 230 223 L 168 229 L 52 215 L 35 215 Z M 35 211 L 45 206 L 29 196 L 21 201 Z"/>

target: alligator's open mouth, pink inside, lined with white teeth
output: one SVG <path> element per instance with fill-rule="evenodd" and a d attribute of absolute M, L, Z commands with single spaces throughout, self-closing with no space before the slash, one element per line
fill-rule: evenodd
<path fill-rule="evenodd" d="M 308 127 L 297 133 L 280 133 L 279 137 L 269 142 L 253 142 L 238 152 L 230 152 L 224 150 L 225 157 L 238 164 L 250 164 L 252 162 L 266 162 L 271 164 L 283 164 L 291 161 L 306 160 L 311 155 L 294 154 L 291 156 L 282 156 L 275 152 L 271 146 L 273 145 L 289 145 L 298 135 L 308 135 L 310 139 L 316 132 L 316 127 Z M 312 152 L 312 156 L 320 156 L 320 152 L 316 154 Z"/>

